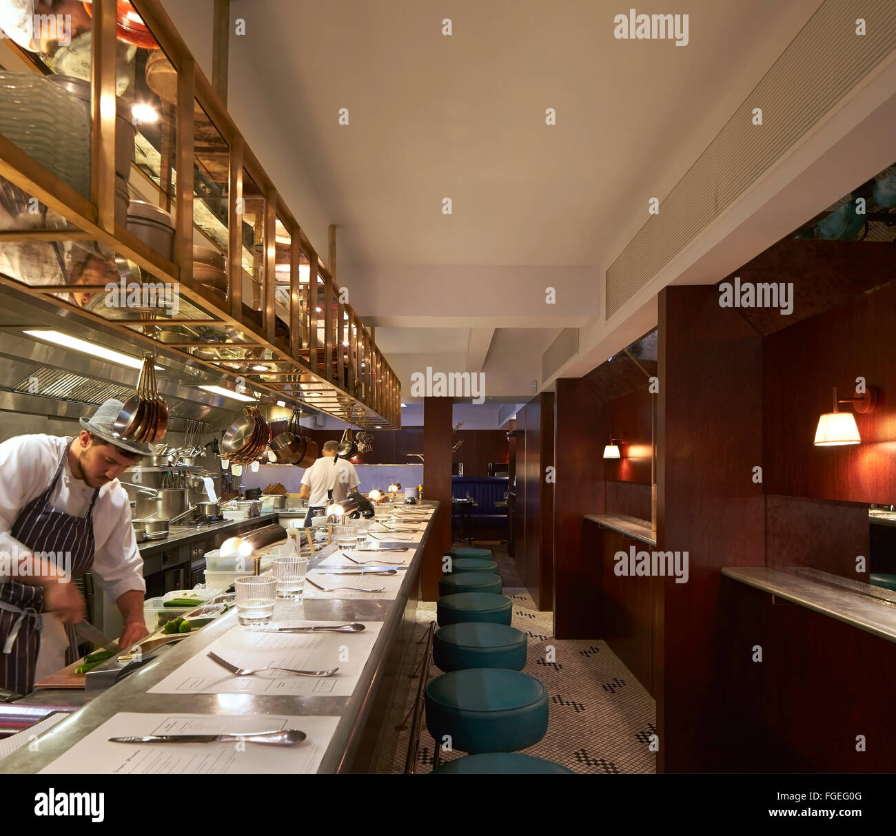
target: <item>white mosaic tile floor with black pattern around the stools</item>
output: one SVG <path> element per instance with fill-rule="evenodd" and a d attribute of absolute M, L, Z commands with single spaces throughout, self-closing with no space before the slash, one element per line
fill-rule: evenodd
<path fill-rule="evenodd" d="M 650 694 L 605 642 L 553 639 L 552 614 L 535 608 L 504 547 L 483 545 L 493 550 L 504 581 L 504 594 L 513 599 L 513 627 L 529 636 L 529 657 L 523 671 L 544 682 L 550 700 L 547 735 L 535 746 L 521 751 L 562 763 L 573 772 L 656 772 L 656 755 L 648 749 L 648 738 L 656 730 L 656 706 Z M 435 601 L 420 602 L 417 621 L 417 636 L 423 636 L 429 622 L 435 621 Z M 553 661 L 546 661 L 549 645 L 555 648 Z M 422 645 L 414 649 L 416 653 L 409 659 L 405 675 L 421 659 Z M 435 665 L 430 666 L 429 672 L 430 678 L 440 673 Z M 409 729 L 394 729 L 412 707 L 416 682 L 412 691 L 408 701 L 396 704 L 392 711 L 375 772 L 404 770 Z M 424 721 L 417 772 L 432 770 L 434 746 Z M 443 753 L 442 760 L 462 756 L 460 752 Z"/>

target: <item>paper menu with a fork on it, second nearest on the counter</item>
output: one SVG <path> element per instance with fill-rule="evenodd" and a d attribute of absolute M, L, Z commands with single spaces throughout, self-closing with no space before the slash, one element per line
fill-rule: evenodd
<path fill-rule="evenodd" d="M 314 623 L 336 626 L 345 622 Z M 364 625 L 361 633 L 257 633 L 236 625 L 148 693 L 350 696 L 383 626 L 380 621 L 366 621 Z M 297 627 L 298 623 L 289 626 Z M 339 670 L 329 677 L 303 677 L 279 670 L 237 677 L 211 661 L 207 655 L 210 651 L 241 668 L 277 665 L 298 670 Z"/>

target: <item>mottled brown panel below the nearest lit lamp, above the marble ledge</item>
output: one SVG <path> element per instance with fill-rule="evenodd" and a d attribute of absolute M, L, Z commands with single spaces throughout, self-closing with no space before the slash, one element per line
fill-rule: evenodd
<path fill-rule="evenodd" d="M 817 499 L 765 499 L 765 554 L 770 567 L 806 566 L 868 582 L 868 509 Z M 866 571 L 856 572 L 865 557 Z"/>

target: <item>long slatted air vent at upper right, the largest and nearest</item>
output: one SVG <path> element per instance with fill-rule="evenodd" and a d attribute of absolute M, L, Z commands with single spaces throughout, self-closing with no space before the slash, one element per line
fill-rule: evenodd
<path fill-rule="evenodd" d="M 856 19 L 867 33 L 856 34 Z M 896 47 L 893 0 L 827 0 L 607 269 L 609 319 Z M 763 124 L 752 124 L 762 107 Z"/>

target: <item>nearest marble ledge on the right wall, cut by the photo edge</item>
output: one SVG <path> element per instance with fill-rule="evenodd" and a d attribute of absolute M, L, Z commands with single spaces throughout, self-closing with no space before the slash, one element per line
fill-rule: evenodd
<path fill-rule="evenodd" d="M 818 569 L 725 567 L 722 575 L 896 642 L 896 593 Z"/>

